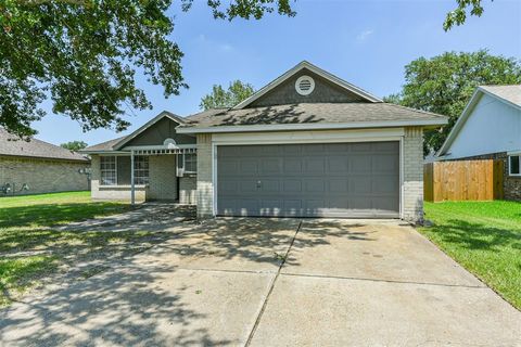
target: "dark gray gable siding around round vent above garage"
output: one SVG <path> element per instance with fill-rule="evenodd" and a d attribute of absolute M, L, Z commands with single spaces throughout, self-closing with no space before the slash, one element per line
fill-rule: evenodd
<path fill-rule="evenodd" d="M 295 90 L 295 82 L 303 75 L 310 76 L 315 80 L 315 90 L 309 95 L 301 95 Z M 322 102 L 350 103 L 367 102 L 367 100 L 304 68 L 246 107 L 253 108 L 259 106 Z"/>

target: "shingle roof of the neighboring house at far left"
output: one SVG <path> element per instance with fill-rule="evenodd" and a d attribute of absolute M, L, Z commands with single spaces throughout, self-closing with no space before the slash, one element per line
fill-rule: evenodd
<path fill-rule="evenodd" d="M 84 155 L 61 146 L 30 139 L 24 141 L 0 128 L 0 155 L 88 162 Z"/>

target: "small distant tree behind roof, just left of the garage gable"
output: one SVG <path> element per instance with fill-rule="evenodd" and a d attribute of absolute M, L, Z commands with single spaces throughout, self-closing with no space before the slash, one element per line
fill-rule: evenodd
<path fill-rule="evenodd" d="M 218 107 L 232 107 L 254 93 L 252 85 L 243 83 L 240 80 L 230 82 L 228 90 L 223 86 L 214 85 L 212 92 L 201 99 L 201 110 Z"/>

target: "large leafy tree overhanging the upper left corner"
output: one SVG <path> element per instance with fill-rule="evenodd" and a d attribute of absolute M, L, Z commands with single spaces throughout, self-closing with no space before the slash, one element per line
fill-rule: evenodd
<path fill-rule="evenodd" d="M 193 0 L 181 0 L 189 11 Z M 290 0 L 207 1 L 215 18 L 259 20 L 277 11 L 293 16 Z M 0 126 L 21 137 L 31 121 L 53 113 L 79 121 L 84 131 L 124 130 L 132 108 L 150 108 L 136 86 L 137 70 L 164 95 L 188 88 L 182 52 L 169 39 L 166 15 L 173 0 L 2 0 L 0 1 Z"/>

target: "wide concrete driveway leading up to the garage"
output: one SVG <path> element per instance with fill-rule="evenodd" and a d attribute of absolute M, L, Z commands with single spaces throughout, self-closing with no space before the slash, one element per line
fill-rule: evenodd
<path fill-rule="evenodd" d="M 398 221 L 216 219 L 0 311 L 2 346 L 521 346 L 521 312 Z"/>

